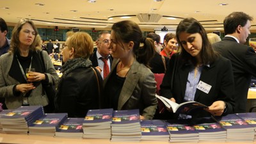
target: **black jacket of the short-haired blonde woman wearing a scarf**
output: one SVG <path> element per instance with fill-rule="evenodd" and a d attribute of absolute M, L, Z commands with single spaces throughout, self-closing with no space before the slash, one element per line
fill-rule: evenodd
<path fill-rule="evenodd" d="M 97 72 L 100 88 L 102 78 Z M 88 109 L 100 108 L 98 83 L 92 68 L 76 68 L 62 79 L 56 95 L 56 112 L 84 118 Z"/>

